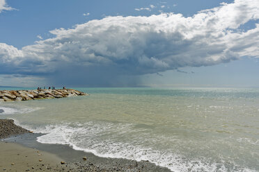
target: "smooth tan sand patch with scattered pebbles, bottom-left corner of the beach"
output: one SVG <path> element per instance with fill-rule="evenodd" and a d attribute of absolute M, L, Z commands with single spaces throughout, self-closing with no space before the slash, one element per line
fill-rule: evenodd
<path fill-rule="evenodd" d="M 0 171 L 70 171 L 60 157 L 19 144 L 0 141 L 0 155 Z"/>

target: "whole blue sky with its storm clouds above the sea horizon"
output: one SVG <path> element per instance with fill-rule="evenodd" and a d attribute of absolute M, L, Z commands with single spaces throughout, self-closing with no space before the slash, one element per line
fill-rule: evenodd
<path fill-rule="evenodd" d="M 0 0 L 0 85 L 259 87 L 258 0 Z"/>

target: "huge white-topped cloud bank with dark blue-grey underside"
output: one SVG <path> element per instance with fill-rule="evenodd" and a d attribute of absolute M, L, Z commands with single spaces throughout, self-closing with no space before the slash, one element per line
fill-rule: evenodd
<path fill-rule="evenodd" d="M 221 3 L 192 17 L 173 13 L 105 17 L 50 31 L 53 38 L 20 50 L 0 43 L 0 74 L 58 78 L 65 74 L 61 83 L 78 78 L 107 83 L 119 76 L 217 65 L 242 56 L 258 58 L 259 24 L 239 30 L 256 19 L 259 1 L 254 0 Z"/>

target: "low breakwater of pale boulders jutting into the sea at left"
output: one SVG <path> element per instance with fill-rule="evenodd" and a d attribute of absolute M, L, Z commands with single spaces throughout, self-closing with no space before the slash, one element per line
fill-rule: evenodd
<path fill-rule="evenodd" d="M 1 101 L 29 101 L 69 96 L 86 96 L 88 94 L 75 89 L 33 89 L 33 90 L 0 90 Z"/>

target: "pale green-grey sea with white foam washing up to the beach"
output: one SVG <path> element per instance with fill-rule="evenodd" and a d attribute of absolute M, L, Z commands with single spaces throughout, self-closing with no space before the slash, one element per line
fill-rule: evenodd
<path fill-rule="evenodd" d="M 40 143 L 99 157 L 171 171 L 259 171 L 258 88 L 74 89 L 90 95 L 0 103 L 0 118 L 44 133 Z"/>

